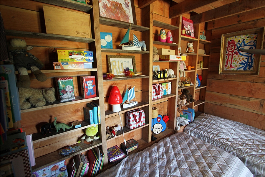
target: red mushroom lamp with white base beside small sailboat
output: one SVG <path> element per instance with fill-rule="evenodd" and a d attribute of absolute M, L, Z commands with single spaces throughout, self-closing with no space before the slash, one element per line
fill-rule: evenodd
<path fill-rule="evenodd" d="M 112 112 L 120 111 L 120 104 L 122 103 L 122 97 L 120 90 L 117 86 L 113 86 L 110 91 L 109 104 L 112 105 Z"/>

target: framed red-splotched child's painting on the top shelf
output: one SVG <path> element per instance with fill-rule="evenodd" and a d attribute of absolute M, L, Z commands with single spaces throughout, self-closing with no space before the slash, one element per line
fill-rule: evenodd
<path fill-rule="evenodd" d="M 100 17 L 137 24 L 133 0 L 100 0 Z"/>

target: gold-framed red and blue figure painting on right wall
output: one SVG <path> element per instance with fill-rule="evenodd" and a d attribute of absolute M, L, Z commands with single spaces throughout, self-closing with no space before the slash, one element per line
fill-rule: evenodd
<path fill-rule="evenodd" d="M 238 49 L 262 49 L 264 27 L 223 34 L 219 74 L 259 75 L 261 55 Z"/>

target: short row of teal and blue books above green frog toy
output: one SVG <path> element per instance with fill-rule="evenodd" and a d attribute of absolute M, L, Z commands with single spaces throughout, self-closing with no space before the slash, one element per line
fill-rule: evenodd
<path fill-rule="evenodd" d="M 84 107 L 85 120 L 90 124 L 100 124 L 100 105 L 91 102 L 87 103 L 87 107 Z"/>

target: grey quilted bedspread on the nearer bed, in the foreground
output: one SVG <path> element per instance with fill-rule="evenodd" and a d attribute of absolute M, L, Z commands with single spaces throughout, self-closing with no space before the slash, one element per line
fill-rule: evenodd
<path fill-rule="evenodd" d="M 176 133 L 123 159 L 98 176 L 253 176 L 234 155 L 186 133 Z"/>

